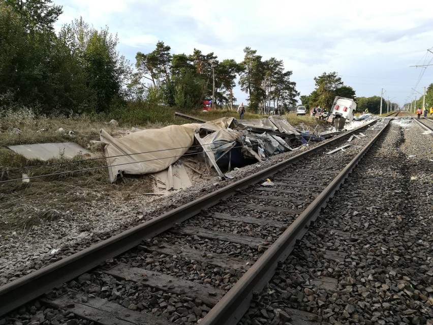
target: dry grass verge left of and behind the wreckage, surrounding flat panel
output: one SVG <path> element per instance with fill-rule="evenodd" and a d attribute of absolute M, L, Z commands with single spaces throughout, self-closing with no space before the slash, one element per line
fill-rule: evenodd
<path fill-rule="evenodd" d="M 197 111 L 190 113 L 202 119 L 215 120 L 224 116 L 238 117 L 236 111 L 215 110 L 207 113 Z M 19 116 L 18 116 L 19 115 Z M 53 119 L 36 119 L 29 112 L 12 115 L 0 122 L 0 182 L 20 179 L 23 173 L 28 176 L 68 173 L 44 176 L 31 179 L 29 183 L 13 181 L 0 183 L 0 231 L 13 229 L 31 229 L 42 221 L 52 221 L 62 216 L 66 211 L 84 213 L 91 204 L 103 204 L 104 200 L 111 200 L 121 204 L 140 197 L 141 193 L 152 192 L 152 182 L 148 175 L 128 176 L 125 182 L 110 184 L 105 168 L 105 159 L 82 161 L 78 155 L 73 159 L 57 158 L 48 162 L 28 160 L 7 148 L 8 145 L 75 142 L 103 158 L 103 146 L 92 145 L 90 140 L 99 140 L 99 131 L 104 128 L 113 136 L 121 135 L 130 125 L 113 126 L 108 121 L 91 119 L 83 116 L 77 119 L 56 117 Z M 173 112 L 174 116 L 174 112 Z M 164 115 L 166 119 L 167 116 Z M 259 114 L 245 113 L 245 119 L 260 119 Z M 296 116 L 294 113 L 285 115 L 294 127 L 312 132 L 317 120 L 311 116 Z M 164 120 L 165 121 L 165 120 Z M 134 125 L 137 128 L 161 128 L 171 122 L 158 122 Z M 190 123 L 183 119 L 176 119 L 176 124 Z M 322 122 L 319 122 L 321 125 Z M 22 132 L 11 134 L 13 128 Z M 59 132 L 58 129 L 64 131 Z M 41 131 L 44 129 L 43 131 Z M 71 137 L 69 131 L 73 130 Z M 123 133 L 124 134 L 124 133 Z M 59 164 L 57 164 L 59 163 Z M 53 165 L 56 164 L 56 165 Z M 38 168 L 30 168 L 43 165 Z M 97 167 L 97 168 L 96 168 Z M 11 170 L 20 168 L 19 170 Z M 74 172 L 86 168 L 86 171 Z"/>

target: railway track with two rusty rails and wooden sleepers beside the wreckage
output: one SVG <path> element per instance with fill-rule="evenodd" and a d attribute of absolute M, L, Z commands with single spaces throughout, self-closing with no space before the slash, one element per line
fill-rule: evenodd
<path fill-rule="evenodd" d="M 57 287 L 46 304 L 99 323 L 236 323 L 384 130 L 366 128 L 0 287 L 0 314 Z"/>

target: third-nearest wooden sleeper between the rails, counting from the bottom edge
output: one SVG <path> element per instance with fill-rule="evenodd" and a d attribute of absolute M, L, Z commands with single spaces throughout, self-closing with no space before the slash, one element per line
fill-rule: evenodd
<path fill-rule="evenodd" d="M 216 265 L 218 267 L 227 269 L 248 270 L 250 268 L 250 265 L 254 264 L 253 261 L 246 261 L 240 258 L 231 257 L 226 254 L 212 253 L 212 257 L 207 258 L 206 256 L 203 256 L 204 254 L 202 251 L 193 248 L 182 247 L 168 243 L 164 243 L 161 246 L 138 246 L 138 248 L 145 250 L 149 253 L 158 252 L 165 255 L 178 255 L 191 260 L 195 259 L 197 261 L 204 261 L 208 264 Z"/>

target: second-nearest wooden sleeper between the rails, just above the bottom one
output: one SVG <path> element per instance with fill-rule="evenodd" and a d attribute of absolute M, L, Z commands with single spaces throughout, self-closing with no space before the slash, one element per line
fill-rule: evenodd
<path fill-rule="evenodd" d="M 157 288 L 175 294 L 183 294 L 190 298 L 199 298 L 209 307 L 217 304 L 226 293 L 224 290 L 214 288 L 208 284 L 183 280 L 156 271 L 133 268 L 124 263 L 119 263 L 114 268 L 104 270 L 103 272 L 117 279 L 128 279 L 134 282 L 140 282 L 151 288 Z"/>

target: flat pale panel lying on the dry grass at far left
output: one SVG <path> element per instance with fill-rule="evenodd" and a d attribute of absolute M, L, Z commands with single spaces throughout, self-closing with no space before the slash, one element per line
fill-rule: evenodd
<path fill-rule="evenodd" d="M 87 158 L 94 156 L 91 152 L 74 142 L 19 144 L 10 145 L 8 148 L 27 159 L 44 161 L 60 157 L 73 158 L 79 153 Z"/>

